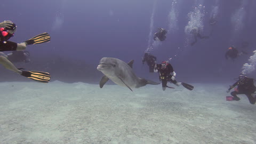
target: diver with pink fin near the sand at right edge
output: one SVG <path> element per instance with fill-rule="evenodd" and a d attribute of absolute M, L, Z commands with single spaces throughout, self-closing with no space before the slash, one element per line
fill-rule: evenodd
<path fill-rule="evenodd" d="M 253 96 L 253 94 L 255 94 L 254 92 L 256 91 L 256 86 L 254 85 L 254 83 L 255 79 L 249 78 L 243 74 L 239 75 L 238 81 L 229 87 L 227 93 L 229 93 L 229 91 L 233 89 L 235 86 L 237 86 L 237 88 L 235 88 L 235 91 L 230 93 L 232 96 L 226 97 L 226 100 L 238 101 L 240 100 L 240 98 L 237 97 L 237 94 L 245 94 L 249 99 L 250 103 L 254 105 L 256 101 L 255 95 Z"/>

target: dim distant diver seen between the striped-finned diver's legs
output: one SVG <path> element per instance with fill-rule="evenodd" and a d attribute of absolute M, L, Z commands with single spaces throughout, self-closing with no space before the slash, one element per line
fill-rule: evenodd
<path fill-rule="evenodd" d="M 0 55 L 3 55 L 5 58 L 10 60 L 11 62 L 30 62 L 30 53 L 29 51 L 12 51 L 12 53 L 8 53 L 7 55 L 3 52 L 0 52 Z"/>

